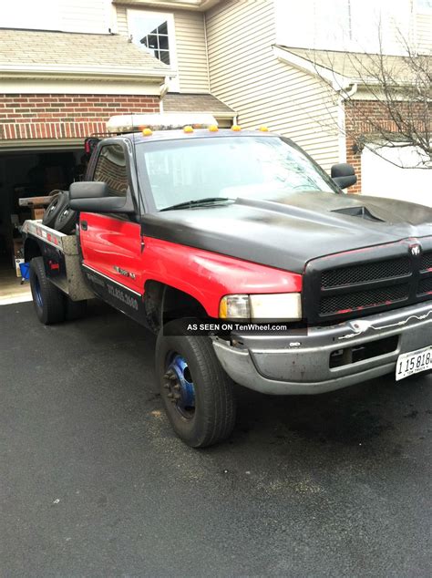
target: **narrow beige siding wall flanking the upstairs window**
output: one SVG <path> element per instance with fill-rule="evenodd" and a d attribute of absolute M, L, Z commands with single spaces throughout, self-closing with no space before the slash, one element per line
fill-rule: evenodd
<path fill-rule="evenodd" d="M 136 10 L 137 7 L 134 5 Z M 128 8 L 117 6 L 118 33 L 129 35 Z M 159 10 L 158 12 L 168 12 Z M 173 10 L 177 66 L 180 92 L 209 92 L 209 72 L 204 33 L 204 15 L 201 12 Z"/>

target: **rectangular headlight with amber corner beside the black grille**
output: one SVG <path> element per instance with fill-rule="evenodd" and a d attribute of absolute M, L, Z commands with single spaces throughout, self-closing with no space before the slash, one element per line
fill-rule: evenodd
<path fill-rule="evenodd" d="M 222 319 L 274 319 L 294 321 L 302 319 L 300 293 L 253 295 L 225 295 L 219 305 Z"/>

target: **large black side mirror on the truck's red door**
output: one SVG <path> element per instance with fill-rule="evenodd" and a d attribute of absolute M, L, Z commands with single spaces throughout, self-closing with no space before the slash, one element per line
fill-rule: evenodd
<path fill-rule="evenodd" d="M 73 182 L 69 188 L 69 205 L 74 211 L 135 212 L 130 196 L 109 194 L 108 184 L 98 181 Z"/>

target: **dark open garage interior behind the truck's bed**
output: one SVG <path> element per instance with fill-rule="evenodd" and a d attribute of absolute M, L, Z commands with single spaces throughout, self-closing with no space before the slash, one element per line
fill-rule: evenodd
<path fill-rule="evenodd" d="M 0 304 L 31 299 L 29 284 L 21 284 L 19 262 L 23 259 L 20 227 L 40 212 L 20 207 L 24 197 L 67 190 L 82 181 L 86 158 L 82 144 L 52 149 L 2 150 L 0 154 Z"/>

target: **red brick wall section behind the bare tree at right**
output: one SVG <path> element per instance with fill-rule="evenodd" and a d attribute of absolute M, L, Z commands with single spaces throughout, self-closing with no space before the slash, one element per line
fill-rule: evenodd
<path fill-rule="evenodd" d="M 404 112 L 404 103 L 399 102 L 397 108 Z M 410 107 L 409 110 L 412 113 L 413 108 Z M 418 118 L 423 119 L 421 105 L 419 105 L 418 112 Z M 407 107 L 406 113 L 408 113 Z M 370 120 L 368 121 L 368 119 Z M 419 122 L 421 122 L 421 120 L 419 120 Z M 378 123 L 379 126 L 386 131 L 397 133 L 395 122 L 388 118 L 386 109 L 383 105 L 380 105 L 379 102 L 375 100 L 353 100 L 345 102 L 346 162 L 353 165 L 355 174 L 357 175 L 355 186 L 347 190 L 350 193 L 358 193 L 362 190 L 361 147 L 356 151 L 353 150 L 353 148 L 358 144 L 358 139 L 367 140 L 368 136 L 371 139 L 374 134 L 374 124 L 376 127 Z"/>

